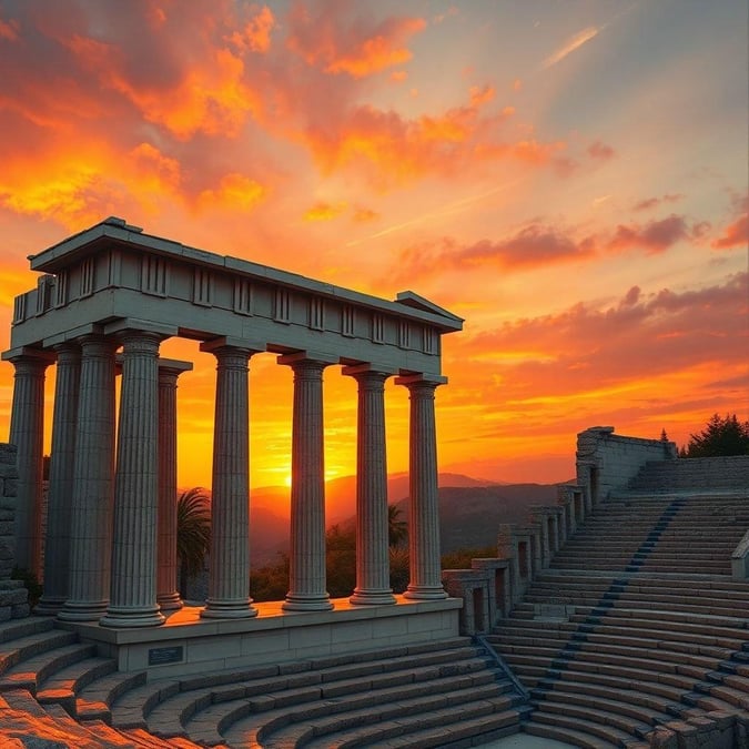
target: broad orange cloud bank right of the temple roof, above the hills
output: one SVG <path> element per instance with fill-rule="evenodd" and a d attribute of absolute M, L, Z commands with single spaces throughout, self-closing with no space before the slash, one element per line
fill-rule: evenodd
<path fill-rule="evenodd" d="M 494 367 L 503 401 L 601 392 L 705 363 L 720 363 L 713 373 L 746 376 L 746 326 L 730 332 L 726 321 L 746 318 L 748 292 L 748 273 L 681 293 L 644 294 L 634 286 L 613 304 L 579 303 L 516 320 L 473 337 L 464 334 L 451 348 L 468 368 Z"/>

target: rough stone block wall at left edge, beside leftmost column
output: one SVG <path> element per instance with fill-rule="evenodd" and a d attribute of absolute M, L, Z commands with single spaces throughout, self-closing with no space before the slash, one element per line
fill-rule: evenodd
<path fill-rule="evenodd" d="M 16 564 L 16 493 L 18 467 L 14 445 L 0 443 L 0 621 L 29 615 L 28 593 L 11 580 Z"/>

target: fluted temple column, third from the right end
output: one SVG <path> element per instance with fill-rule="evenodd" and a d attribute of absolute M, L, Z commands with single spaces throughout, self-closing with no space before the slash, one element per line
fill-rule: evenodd
<path fill-rule="evenodd" d="M 279 357 L 294 371 L 292 423 L 291 550 L 289 593 L 292 611 L 333 608 L 325 578 L 325 464 L 323 370 L 332 364 L 307 353 Z"/>

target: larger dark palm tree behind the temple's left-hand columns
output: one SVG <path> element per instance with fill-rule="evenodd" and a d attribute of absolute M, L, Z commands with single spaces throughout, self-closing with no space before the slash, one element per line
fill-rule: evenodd
<path fill-rule="evenodd" d="M 202 569 L 211 546 L 211 499 L 202 486 L 195 486 L 176 500 L 176 557 L 180 564 L 180 593 L 188 579 Z"/>

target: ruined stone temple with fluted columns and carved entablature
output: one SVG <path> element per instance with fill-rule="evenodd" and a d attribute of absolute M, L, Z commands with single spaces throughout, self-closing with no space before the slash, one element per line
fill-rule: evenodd
<path fill-rule="evenodd" d="M 16 298 L 10 442 L 18 447 L 18 565 L 40 573 L 38 613 L 149 628 L 181 606 L 175 586 L 176 382 L 160 357 L 179 336 L 216 361 L 212 549 L 204 620 L 253 618 L 249 591 L 249 368 L 259 352 L 294 373 L 289 594 L 283 611 L 328 611 L 323 372 L 358 385 L 357 560 L 351 604 L 393 606 L 388 583 L 384 383 L 411 401 L 411 583 L 405 600 L 447 598 L 441 581 L 435 389 L 441 337 L 460 318 L 414 294 L 385 301 L 185 246 L 110 217 L 30 257 Z M 43 383 L 57 367 L 47 537 Z M 121 376 L 115 413 L 115 377 Z M 41 548 L 45 549 L 43 569 Z"/>

